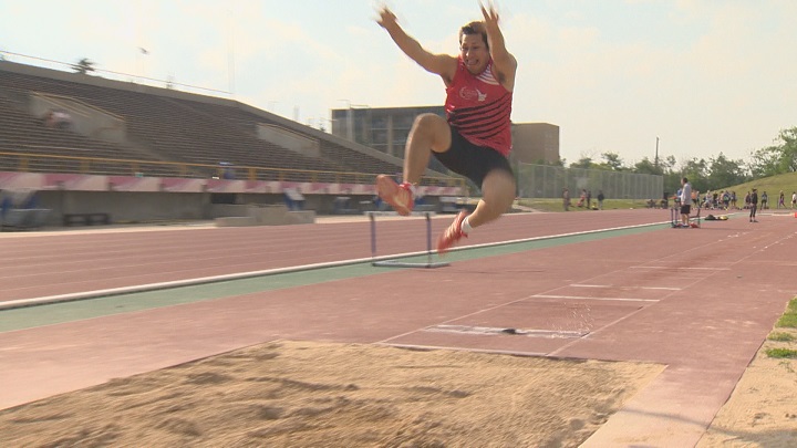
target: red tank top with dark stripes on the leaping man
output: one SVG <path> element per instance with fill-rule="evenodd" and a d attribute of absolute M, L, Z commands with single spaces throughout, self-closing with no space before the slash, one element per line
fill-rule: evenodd
<path fill-rule="evenodd" d="M 476 146 L 504 156 L 511 150 L 511 92 L 493 74 L 493 60 L 478 75 L 468 72 L 462 56 L 452 84 L 446 88 L 448 124 Z"/>

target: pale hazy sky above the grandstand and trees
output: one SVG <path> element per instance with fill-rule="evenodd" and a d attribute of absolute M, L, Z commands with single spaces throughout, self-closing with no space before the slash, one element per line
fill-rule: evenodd
<path fill-rule="evenodd" d="M 0 0 L 0 52 L 234 98 L 313 127 L 330 110 L 442 105 L 439 76 L 375 19 L 387 4 L 433 53 L 458 53 L 478 0 Z M 720 154 L 748 162 L 797 126 L 797 1 L 497 0 L 518 61 L 515 123 L 560 127 L 568 164 Z M 143 51 L 143 50 L 144 51 Z"/>

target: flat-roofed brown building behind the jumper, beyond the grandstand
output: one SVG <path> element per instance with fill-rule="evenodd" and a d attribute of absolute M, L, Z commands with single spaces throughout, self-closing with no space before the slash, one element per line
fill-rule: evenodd
<path fill-rule="evenodd" d="M 404 157 L 410 128 L 423 113 L 445 116 L 443 106 L 335 108 L 332 134 Z M 513 155 L 517 162 L 534 164 L 559 160 L 559 126 L 548 123 L 513 123 Z"/>

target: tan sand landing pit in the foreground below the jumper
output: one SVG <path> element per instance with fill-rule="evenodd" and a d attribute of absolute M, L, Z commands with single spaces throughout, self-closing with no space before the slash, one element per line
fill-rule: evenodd
<path fill-rule="evenodd" d="M 0 446 L 576 447 L 663 368 L 280 341 L 0 411 Z"/>

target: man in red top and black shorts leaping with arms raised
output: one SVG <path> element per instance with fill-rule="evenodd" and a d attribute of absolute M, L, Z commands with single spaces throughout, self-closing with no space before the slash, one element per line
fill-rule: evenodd
<path fill-rule="evenodd" d="M 459 29 L 457 56 L 431 53 L 421 46 L 387 7 L 379 14 L 377 23 L 398 49 L 427 72 L 439 75 L 446 87 L 446 118 L 435 114 L 415 118 L 406 143 L 404 181 L 398 185 L 390 176 L 377 176 L 379 196 L 398 215 L 410 215 L 415 188 L 432 155 L 482 189 L 473 213 L 460 211 L 438 238 L 437 251 L 445 253 L 474 229 L 498 219 L 515 200 L 515 174 L 507 157 L 511 150 L 509 115 L 517 61 L 506 49 L 491 4 L 482 7 L 483 21 Z"/>

